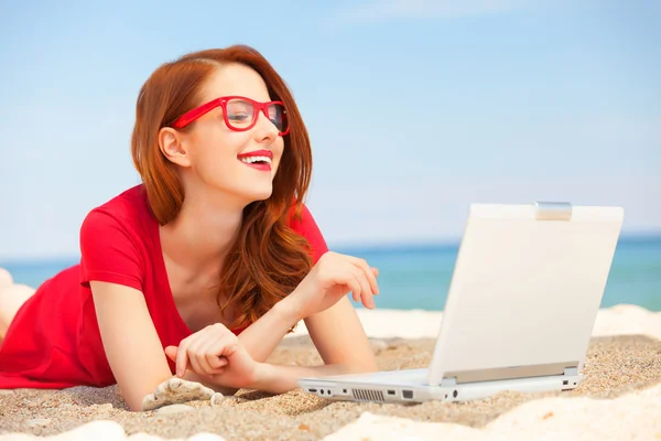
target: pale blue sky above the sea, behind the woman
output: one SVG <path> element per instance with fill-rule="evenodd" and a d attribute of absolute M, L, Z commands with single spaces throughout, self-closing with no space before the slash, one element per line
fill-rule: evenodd
<path fill-rule="evenodd" d="M 330 246 L 454 240 L 472 202 L 661 232 L 658 1 L 139 3 L 0 7 L 0 259 L 76 256 L 87 212 L 139 182 L 142 83 L 234 43 L 297 99 Z"/>

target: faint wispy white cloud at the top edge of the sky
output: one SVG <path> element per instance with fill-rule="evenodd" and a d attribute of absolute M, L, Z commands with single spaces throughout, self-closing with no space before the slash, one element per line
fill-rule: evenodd
<path fill-rule="evenodd" d="M 346 22 L 372 22 L 391 19 L 449 19 L 464 15 L 506 12 L 527 0 L 375 0 L 342 11 Z"/>

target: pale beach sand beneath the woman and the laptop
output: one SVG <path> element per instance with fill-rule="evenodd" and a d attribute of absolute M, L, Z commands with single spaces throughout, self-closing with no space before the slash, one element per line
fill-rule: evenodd
<path fill-rule="evenodd" d="M 440 313 L 361 310 L 360 315 L 381 369 L 429 363 Z M 321 363 L 304 326 L 269 361 Z M 1 390 L 0 440 L 661 439 L 661 313 L 631 305 L 599 311 L 584 374 L 573 391 L 422 405 L 240 390 L 214 407 L 197 400 L 130 412 L 115 386 Z"/>

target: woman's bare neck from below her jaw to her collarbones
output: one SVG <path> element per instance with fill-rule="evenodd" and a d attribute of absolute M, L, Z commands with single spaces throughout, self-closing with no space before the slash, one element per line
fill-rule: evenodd
<path fill-rule="evenodd" d="M 231 195 L 187 193 L 176 218 L 161 227 L 163 251 L 192 272 L 218 271 L 239 233 L 243 207 Z"/>

